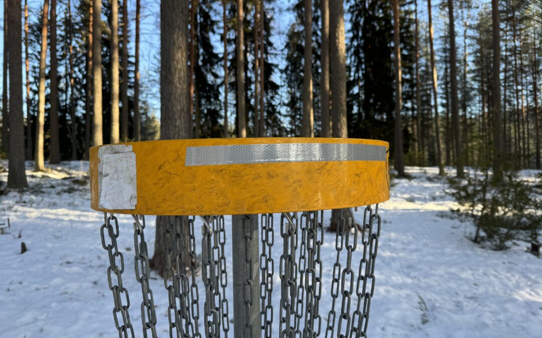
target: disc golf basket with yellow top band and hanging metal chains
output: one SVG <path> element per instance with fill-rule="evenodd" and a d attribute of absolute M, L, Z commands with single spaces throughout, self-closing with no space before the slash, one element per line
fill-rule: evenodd
<path fill-rule="evenodd" d="M 156 244 L 166 253 L 170 337 L 365 337 L 375 290 L 378 203 L 389 198 L 388 149 L 387 142 L 344 138 L 91 148 L 91 204 L 104 213 L 101 241 L 119 336 L 134 336 L 134 327 L 115 214 L 133 217 L 145 337 L 158 334 L 144 215 L 165 216 Z M 364 216 L 357 224 L 347 208 L 360 206 Z M 340 209 L 338 225 L 324 242 L 324 210 L 330 209 Z M 232 215 L 231 232 L 224 215 Z"/>

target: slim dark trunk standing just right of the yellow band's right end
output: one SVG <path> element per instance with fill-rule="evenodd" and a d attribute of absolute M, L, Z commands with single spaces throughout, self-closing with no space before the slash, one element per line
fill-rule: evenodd
<path fill-rule="evenodd" d="M 399 2 L 392 1 L 393 6 L 393 45 L 395 50 L 395 163 L 397 175 L 405 175 L 403 163 L 403 122 L 401 119 L 401 47 L 399 46 Z"/>

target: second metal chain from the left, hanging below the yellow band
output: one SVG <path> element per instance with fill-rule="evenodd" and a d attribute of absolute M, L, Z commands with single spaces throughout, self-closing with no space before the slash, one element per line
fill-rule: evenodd
<path fill-rule="evenodd" d="M 141 323 L 143 324 L 143 336 L 147 338 L 147 330 L 151 330 L 151 335 L 156 338 L 156 311 L 154 309 L 154 297 L 149 286 L 151 270 L 149 268 L 149 251 L 147 251 L 147 242 L 145 242 L 145 216 L 132 215 L 134 222 L 134 250 L 135 250 L 135 279 L 141 284 Z"/>

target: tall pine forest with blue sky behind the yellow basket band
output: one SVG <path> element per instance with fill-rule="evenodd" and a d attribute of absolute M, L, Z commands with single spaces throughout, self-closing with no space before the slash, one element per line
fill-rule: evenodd
<path fill-rule="evenodd" d="M 399 176 L 541 168 L 538 1 L 168 3 L 4 0 L 10 187 L 24 160 L 157 138 L 375 138 Z M 143 77 L 141 11 L 161 32 Z"/>

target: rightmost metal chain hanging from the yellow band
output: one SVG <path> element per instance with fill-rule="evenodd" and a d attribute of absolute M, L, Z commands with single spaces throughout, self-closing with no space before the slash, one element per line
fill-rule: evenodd
<path fill-rule="evenodd" d="M 367 222 L 367 219 L 369 222 Z M 373 231 L 375 221 L 377 224 L 376 233 Z M 375 294 L 375 261 L 378 253 L 378 238 L 380 237 L 381 225 L 382 218 L 378 215 L 378 204 L 376 204 L 375 213 L 372 213 L 371 206 L 367 206 L 363 215 L 363 256 L 359 262 L 358 282 L 356 287 L 358 308 L 356 312 L 354 312 L 354 318 L 357 316 L 358 320 L 357 322 L 352 322 L 352 333 L 356 334 L 356 338 L 367 336 L 371 299 Z M 367 237 L 365 237 L 365 230 L 367 230 Z M 367 292 L 367 282 L 370 282 L 369 292 Z M 362 286 L 361 291 L 359 291 L 360 285 Z M 363 309 L 360 310 L 361 304 L 363 304 Z M 354 327 L 354 323 L 357 324 L 356 327 Z"/>

